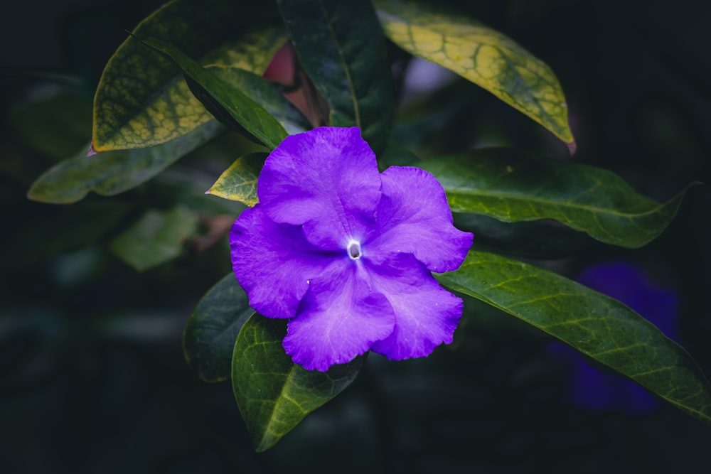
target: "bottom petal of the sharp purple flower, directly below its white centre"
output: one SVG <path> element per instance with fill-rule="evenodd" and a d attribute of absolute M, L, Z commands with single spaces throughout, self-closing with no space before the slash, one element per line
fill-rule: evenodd
<path fill-rule="evenodd" d="M 392 307 L 373 291 L 362 263 L 339 259 L 310 286 L 284 338 L 287 354 L 306 370 L 349 362 L 392 333 Z"/>

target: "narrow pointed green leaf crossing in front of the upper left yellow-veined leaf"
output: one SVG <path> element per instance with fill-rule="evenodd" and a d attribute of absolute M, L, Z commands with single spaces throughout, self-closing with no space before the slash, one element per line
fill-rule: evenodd
<path fill-rule="evenodd" d="M 173 45 L 149 38 L 141 38 L 141 41 L 168 55 L 187 77 L 198 83 L 238 124 L 269 149 L 276 148 L 286 138 L 284 127 L 244 92 L 221 80 Z"/>

